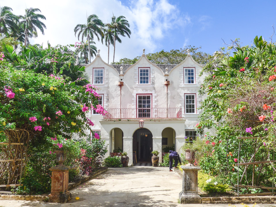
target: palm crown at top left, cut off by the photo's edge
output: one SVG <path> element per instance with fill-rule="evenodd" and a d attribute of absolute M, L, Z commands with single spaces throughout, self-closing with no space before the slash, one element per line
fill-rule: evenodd
<path fill-rule="evenodd" d="M 15 32 L 18 28 L 18 16 L 14 15 L 11 7 L 0 7 L 0 33 L 9 35 L 10 32 Z"/>

